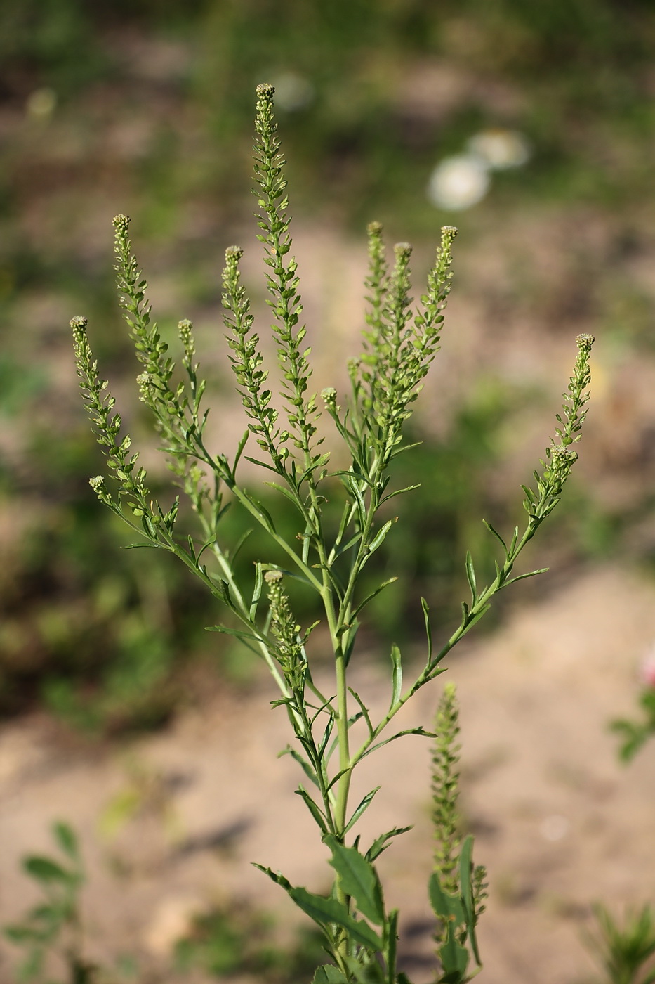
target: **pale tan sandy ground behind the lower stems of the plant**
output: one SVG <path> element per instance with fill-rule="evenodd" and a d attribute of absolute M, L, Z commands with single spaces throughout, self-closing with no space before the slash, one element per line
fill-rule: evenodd
<path fill-rule="evenodd" d="M 607 730 L 633 706 L 636 667 L 655 639 L 653 601 L 634 572 L 591 570 L 515 609 L 494 636 L 473 639 L 449 661 L 444 679 L 456 682 L 461 703 L 462 812 L 490 873 L 480 926 L 488 984 L 590 979 L 594 965 L 581 942 L 590 903 L 602 899 L 620 913 L 653 898 L 654 750 L 623 769 Z M 378 664 L 356 667 L 354 677 L 374 708 L 386 706 Z M 429 725 L 439 686 L 421 691 L 398 723 Z M 137 953 L 145 979 L 173 980 L 167 954 L 191 915 L 212 904 L 245 899 L 280 921 L 295 918 L 281 890 L 248 863 L 327 888 L 327 852 L 294 795 L 297 767 L 275 758 L 287 734 L 283 712 L 268 709 L 273 697 L 264 682 L 248 696 L 219 696 L 119 751 L 66 742 L 41 718 L 5 724 L 0 921 L 33 900 L 19 859 L 48 848 L 55 818 L 72 820 L 83 839 L 91 950 Z M 166 809 L 153 807 L 102 839 L 98 819 L 106 821 L 107 803 L 129 787 L 135 763 L 159 776 Z M 401 909 L 403 960 L 418 984 L 432 969 L 429 770 L 429 743 L 404 738 L 368 760 L 353 795 L 383 783 L 362 821 L 363 842 L 414 824 L 380 868 L 388 903 Z M 12 958 L 5 948 L 2 984 L 14 979 Z"/>

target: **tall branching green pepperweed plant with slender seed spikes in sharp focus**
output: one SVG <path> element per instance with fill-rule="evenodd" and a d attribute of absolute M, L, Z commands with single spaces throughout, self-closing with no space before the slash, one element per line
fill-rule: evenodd
<path fill-rule="evenodd" d="M 147 544 L 175 554 L 207 586 L 224 613 L 215 631 L 237 636 L 268 664 L 279 692 L 273 703 L 285 708 L 295 739 L 287 751 L 304 772 L 306 784 L 298 792 L 330 854 L 332 889 L 327 896 L 320 895 L 291 885 L 268 868 L 262 870 L 323 931 L 330 962 L 317 970 L 315 981 L 407 984 L 405 974 L 396 968 L 397 912 L 387 910 L 375 862 L 391 839 L 408 828 L 388 830 L 374 843 L 363 845 L 355 828 L 377 790 L 351 803 L 352 774 L 363 759 L 403 734 L 433 734 L 423 727 L 393 732 L 389 725 L 420 688 L 444 672 L 445 657 L 485 614 L 494 596 L 520 578 L 539 573 L 514 575 L 514 565 L 559 502 L 577 457 L 572 446 L 579 439 L 586 413 L 593 338 L 577 338 L 578 355 L 564 410 L 558 415 L 558 441 L 547 449 L 534 472 L 534 482 L 524 486 L 524 527 L 519 530 L 517 526 L 504 539 L 487 523 L 502 548 L 495 577 L 490 584 L 479 584 L 473 559 L 470 553 L 466 555 L 471 596 L 462 603 L 459 625 L 440 645 L 433 643 L 428 603 L 421 600 L 427 631 L 424 664 L 405 683 L 400 650 L 391 646 L 388 705 L 381 714 L 374 714 L 365 696 L 349 684 L 348 670 L 356 658 L 360 620 L 386 584 L 373 591 L 369 588 L 364 594 L 362 573 L 373 554 L 383 548 L 393 525 L 385 508 L 387 502 L 409 491 L 389 485 L 389 467 L 406 450 L 403 427 L 439 349 L 455 229 L 446 226 L 442 230 L 426 292 L 416 303 L 410 287 L 411 248 L 406 243 L 396 245 L 389 267 L 382 226 L 375 222 L 369 226 L 364 352 L 349 364 L 350 392 L 339 397 L 336 390 L 328 388 L 318 400 L 311 388 L 297 265 L 290 253 L 284 160 L 272 100 L 272 87 L 260 86 L 255 194 L 277 365 L 271 372 L 265 363 L 251 302 L 241 280 L 242 250 L 231 246 L 225 253 L 223 271 L 227 357 L 248 418 L 232 457 L 216 453 L 206 441 L 205 384 L 195 361 L 193 326 L 186 320 L 179 324 L 183 373 L 181 381 L 175 382 L 178 376 L 167 346 L 150 320 L 147 284 L 133 254 L 129 218 L 117 215 L 114 219 L 120 303 L 142 364 L 138 379 L 141 400 L 153 415 L 161 448 L 196 514 L 199 532 L 196 536 L 179 532 L 178 498 L 162 505 L 150 495 L 146 472 L 138 466 L 130 437 L 114 410 L 114 400 L 98 375 L 87 321 L 79 317 L 71 324 L 80 385 L 109 469 L 109 480 L 98 475 L 90 483 L 100 501 Z M 275 390 L 277 397 L 273 396 Z M 346 453 L 349 463 L 345 467 L 330 465 L 318 429 L 324 412 L 333 421 L 341 461 Z M 297 517 L 294 537 L 280 533 L 275 517 L 241 480 L 240 461 L 244 457 L 261 466 L 267 484 L 292 504 Z M 330 510 L 335 501 L 338 505 L 336 522 L 332 522 L 331 512 L 328 518 L 327 497 Z M 252 579 L 237 578 L 234 556 L 238 543 L 226 543 L 221 527 L 225 509 L 233 501 L 243 507 L 251 522 L 267 531 L 275 550 L 272 555 L 283 556 L 283 566 L 263 557 L 255 565 Z M 314 627 L 301 628 L 293 614 L 293 591 L 289 588 L 294 581 L 315 593 L 327 626 L 333 652 L 333 682 L 327 686 L 318 686 L 312 672 Z M 449 691 L 447 695 L 438 721 L 438 730 L 444 731 L 442 757 L 454 715 Z M 447 769 L 446 758 L 443 763 Z M 432 879 L 431 897 L 439 922 L 439 979 L 454 984 L 469 977 L 461 953 L 466 940 L 474 961 L 479 963 L 474 925 L 481 908 L 483 876 L 473 868 L 470 838 L 461 843 L 452 840 L 456 839 L 456 829 L 450 829 L 447 797 L 452 797 L 456 781 L 448 786 L 447 778 L 442 779 L 435 780 L 436 818 L 438 826 L 449 831 L 445 837 L 451 842 L 440 848 L 442 875 Z"/>

